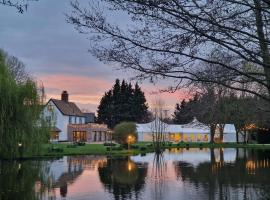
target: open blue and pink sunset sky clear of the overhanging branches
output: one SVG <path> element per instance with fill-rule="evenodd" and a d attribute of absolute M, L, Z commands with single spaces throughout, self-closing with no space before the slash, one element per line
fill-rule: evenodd
<path fill-rule="evenodd" d="M 60 98 L 61 91 L 67 90 L 70 100 L 95 112 L 115 79 L 129 80 L 132 72 L 116 70 L 88 53 L 86 36 L 66 23 L 64 14 L 71 10 L 69 2 L 40 0 L 31 3 L 24 14 L 0 5 L 0 48 L 18 57 L 27 71 L 43 82 L 47 99 Z M 158 96 L 171 112 L 175 103 L 186 96 L 183 92 L 153 94 L 166 87 L 164 83 L 152 85 L 145 81 L 141 87 L 149 104 Z"/>

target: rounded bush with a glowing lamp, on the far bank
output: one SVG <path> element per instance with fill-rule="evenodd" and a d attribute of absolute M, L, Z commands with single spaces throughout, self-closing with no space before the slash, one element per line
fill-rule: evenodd
<path fill-rule="evenodd" d="M 113 139 L 120 144 L 134 144 L 137 140 L 136 124 L 122 122 L 114 128 Z"/>

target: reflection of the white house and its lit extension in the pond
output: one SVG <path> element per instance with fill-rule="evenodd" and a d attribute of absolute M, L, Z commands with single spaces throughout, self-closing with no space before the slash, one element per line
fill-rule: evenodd
<path fill-rule="evenodd" d="M 68 186 L 83 173 L 84 170 L 95 170 L 106 163 L 103 156 L 74 156 L 63 157 L 59 160 L 48 161 L 48 199 L 56 199 L 56 196 L 66 197 Z M 56 191 L 59 189 L 60 194 Z M 44 198 L 46 199 L 46 198 Z"/>

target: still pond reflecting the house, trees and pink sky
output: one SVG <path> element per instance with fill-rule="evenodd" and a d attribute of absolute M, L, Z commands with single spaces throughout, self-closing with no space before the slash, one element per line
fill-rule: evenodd
<path fill-rule="evenodd" d="M 270 151 L 171 149 L 0 161 L 1 200 L 270 199 Z"/>

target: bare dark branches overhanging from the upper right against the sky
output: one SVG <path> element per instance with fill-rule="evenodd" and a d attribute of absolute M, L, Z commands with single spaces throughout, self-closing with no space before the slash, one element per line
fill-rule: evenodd
<path fill-rule="evenodd" d="M 90 51 L 100 60 L 135 70 L 139 79 L 175 79 L 172 90 L 185 85 L 186 80 L 213 82 L 270 101 L 267 0 L 101 2 L 91 1 L 87 9 L 74 1 L 73 12 L 67 15 L 67 21 L 80 33 L 91 36 Z M 104 11 L 123 11 L 130 16 L 128 28 L 108 21 Z M 213 59 L 210 54 L 215 49 L 234 57 L 234 63 Z M 246 70 L 243 63 L 255 68 Z M 229 70 L 229 84 L 218 74 L 214 79 L 198 76 L 199 66 L 204 64 Z M 266 93 L 243 88 L 243 81 L 259 85 Z"/>

